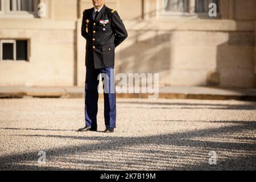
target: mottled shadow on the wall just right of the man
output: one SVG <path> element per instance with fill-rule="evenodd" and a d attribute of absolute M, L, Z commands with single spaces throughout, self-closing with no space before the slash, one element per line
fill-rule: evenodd
<path fill-rule="evenodd" d="M 119 53 L 123 57 L 119 64 L 119 72 L 158 73 L 170 70 L 171 33 L 135 31 L 134 34 L 134 44 Z M 141 40 L 143 34 L 150 34 L 150 38 Z"/>

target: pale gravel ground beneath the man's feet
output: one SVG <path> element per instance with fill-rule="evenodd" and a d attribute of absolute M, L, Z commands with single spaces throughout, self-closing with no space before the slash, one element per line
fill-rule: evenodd
<path fill-rule="evenodd" d="M 0 100 L 0 169 L 256 169 L 256 102 L 118 99 L 110 134 L 102 133 L 103 106 L 99 131 L 77 133 L 85 125 L 81 98 Z"/>

